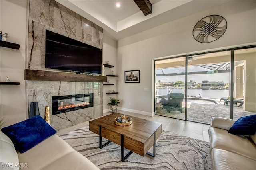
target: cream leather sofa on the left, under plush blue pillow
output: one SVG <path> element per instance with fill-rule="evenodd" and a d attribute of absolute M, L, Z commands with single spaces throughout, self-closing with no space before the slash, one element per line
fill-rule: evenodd
<path fill-rule="evenodd" d="M 1 170 L 99 170 L 56 134 L 23 153 L 2 131 L 0 139 Z"/>

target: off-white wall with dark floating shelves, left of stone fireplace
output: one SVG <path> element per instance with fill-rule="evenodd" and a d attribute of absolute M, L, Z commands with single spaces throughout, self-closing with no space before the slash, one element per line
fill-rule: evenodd
<path fill-rule="evenodd" d="M 26 0 L 0 1 L 2 33 L 10 35 L 7 41 L 20 44 L 20 49 L 0 47 L 0 79 L 20 82 L 20 85 L 1 85 L 0 116 L 8 119 L 5 126 L 26 119 L 26 93 L 23 70 L 26 56 Z"/>

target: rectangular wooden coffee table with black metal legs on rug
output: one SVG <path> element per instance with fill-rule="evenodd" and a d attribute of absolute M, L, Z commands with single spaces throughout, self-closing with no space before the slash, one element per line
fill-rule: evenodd
<path fill-rule="evenodd" d="M 121 146 L 121 159 L 124 162 L 133 152 L 145 156 L 146 154 L 155 157 L 156 139 L 162 133 L 162 124 L 132 117 L 132 124 L 128 126 L 115 125 L 114 119 L 121 116 L 120 113 L 100 117 L 89 122 L 89 130 L 100 135 L 100 149 L 114 142 Z M 109 141 L 102 145 L 102 137 Z M 148 150 L 153 148 L 153 153 Z M 124 148 L 130 150 L 124 156 Z"/>

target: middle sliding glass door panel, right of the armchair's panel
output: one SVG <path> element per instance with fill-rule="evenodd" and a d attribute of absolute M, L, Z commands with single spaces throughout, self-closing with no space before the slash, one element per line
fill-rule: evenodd
<path fill-rule="evenodd" d="M 230 117 L 224 105 L 229 96 L 230 52 L 216 52 L 189 57 L 188 107 L 190 121 L 210 123 L 212 117 Z M 188 58 L 188 59 L 189 59 Z"/>

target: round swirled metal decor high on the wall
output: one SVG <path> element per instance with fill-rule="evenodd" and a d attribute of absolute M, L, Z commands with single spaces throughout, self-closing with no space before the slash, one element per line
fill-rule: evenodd
<path fill-rule="evenodd" d="M 200 43 L 210 43 L 219 39 L 225 33 L 227 26 L 227 21 L 222 16 L 207 16 L 196 23 L 193 36 Z"/>

